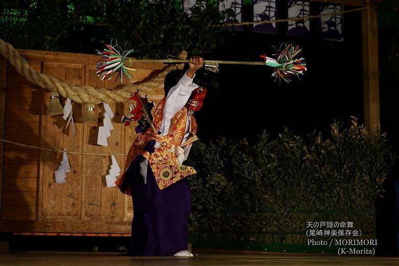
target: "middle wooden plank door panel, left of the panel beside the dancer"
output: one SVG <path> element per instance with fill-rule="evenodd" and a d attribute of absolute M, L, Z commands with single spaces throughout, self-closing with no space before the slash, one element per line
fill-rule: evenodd
<path fill-rule="evenodd" d="M 61 81 L 84 84 L 84 65 L 74 63 L 44 62 L 43 73 L 57 77 Z M 44 94 L 46 109 L 49 93 Z M 61 103 L 64 103 L 62 99 Z M 81 105 L 73 103 L 74 119 L 81 116 Z M 83 124 L 75 123 L 76 135 L 72 136 L 71 126 L 65 129 L 66 121 L 62 115 L 45 115 L 42 119 L 41 146 L 67 151 L 83 150 Z M 78 122 L 78 121 L 76 121 Z M 41 178 L 39 192 L 39 219 L 81 220 L 82 156 L 68 154 L 71 172 L 67 173 L 66 183 L 56 184 L 54 171 L 62 160 L 62 153 L 42 151 Z"/>

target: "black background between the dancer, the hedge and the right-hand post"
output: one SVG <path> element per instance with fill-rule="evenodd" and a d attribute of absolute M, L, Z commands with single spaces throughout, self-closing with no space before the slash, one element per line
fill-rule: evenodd
<path fill-rule="evenodd" d="M 311 20 L 311 28 L 310 38 L 287 36 L 285 23 L 278 24 L 277 35 L 248 29 L 228 35 L 225 44 L 213 50 L 212 58 L 259 61 L 259 55 L 275 53 L 273 46 L 293 42 L 303 49 L 308 71 L 301 80 L 279 84 L 268 66 L 221 65 L 218 93 L 209 91 L 203 109 L 195 114 L 198 136 L 255 141 L 263 129 L 274 138 L 284 126 L 306 135 L 314 130 L 326 132 L 334 120 L 349 123 L 350 116 L 363 122 L 361 14 L 344 15 L 344 41 L 322 39 L 318 20 Z"/>

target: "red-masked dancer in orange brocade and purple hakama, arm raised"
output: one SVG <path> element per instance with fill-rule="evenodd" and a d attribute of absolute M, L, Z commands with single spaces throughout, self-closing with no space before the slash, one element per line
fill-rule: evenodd
<path fill-rule="evenodd" d="M 201 108 L 207 91 L 193 82 L 202 66 L 203 58 L 191 57 L 189 69 L 171 88 L 168 83 L 175 73 L 166 76 L 167 95 L 152 119 L 158 134 L 148 128 L 136 139 L 126 170 L 116 181 L 123 193 L 132 196 L 131 256 L 193 256 L 187 251 L 191 191 L 184 178 L 196 172 L 182 165 L 191 148 L 182 143 L 195 136 L 192 113 Z"/>

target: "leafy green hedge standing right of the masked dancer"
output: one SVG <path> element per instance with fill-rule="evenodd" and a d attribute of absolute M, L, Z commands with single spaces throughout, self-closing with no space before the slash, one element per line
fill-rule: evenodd
<path fill-rule="evenodd" d="M 254 145 L 225 138 L 195 143 L 190 157 L 197 170 L 189 178 L 191 233 L 233 239 L 303 232 L 306 221 L 322 220 L 353 221 L 372 232 L 373 214 L 350 210 L 374 209 L 395 160 L 385 134 L 370 134 L 356 119 L 350 127 L 331 125 L 327 139 L 304 140 L 285 128 L 274 141 L 263 131 Z"/>

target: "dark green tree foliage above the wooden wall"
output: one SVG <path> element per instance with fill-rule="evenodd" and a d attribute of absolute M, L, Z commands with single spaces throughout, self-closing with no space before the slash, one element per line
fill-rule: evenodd
<path fill-rule="evenodd" d="M 164 58 L 209 51 L 223 42 L 219 12 L 197 0 L 188 16 L 174 0 L 0 0 L 0 37 L 20 49 L 95 53 L 117 39 L 134 56 Z M 201 6 L 201 8 L 199 8 Z"/>

